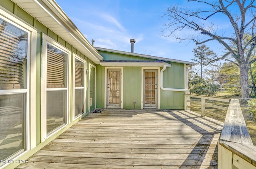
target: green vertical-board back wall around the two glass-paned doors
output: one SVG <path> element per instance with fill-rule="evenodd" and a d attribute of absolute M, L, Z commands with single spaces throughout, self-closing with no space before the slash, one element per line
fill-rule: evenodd
<path fill-rule="evenodd" d="M 143 57 L 124 55 L 120 53 L 113 53 L 107 51 L 99 51 L 104 60 L 132 60 L 144 61 L 152 60 Z M 163 73 L 163 87 L 164 88 L 181 88 L 184 89 L 184 64 L 168 62 L 171 67 L 167 67 Z M 153 67 L 152 67 L 153 68 Z M 162 67 L 160 68 L 162 69 Z M 160 72 L 158 72 L 160 74 Z M 123 84 L 123 108 L 134 108 L 133 101 L 136 101 L 135 108 L 142 107 L 142 67 L 124 67 L 124 84 Z M 160 76 L 159 76 L 160 77 Z M 96 105 L 97 108 L 104 108 L 104 81 L 105 81 L 105 67 L 97 65 L 97 93 Z M 160 87 L 160 84 L 159 84 Z M 160 89 L 160 109 L 184 109 L 184 92 L 165 91 Z"/>

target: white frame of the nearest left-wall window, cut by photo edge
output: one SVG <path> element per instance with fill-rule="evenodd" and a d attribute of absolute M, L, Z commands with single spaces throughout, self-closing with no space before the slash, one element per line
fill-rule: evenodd
<path fill-rule="evenodd" d="M 1 95 L 26 93 L 26 112 L 24 119 L 24 151 L 22 151 L 22 153 L 18 151 L 16 154 L 12 155 L 13 159 L 18 159 L 20 156 L 26 153 L 26 151 L 36 147 L 36 81 L 34 79 L 36 79 L 37 29 L 2 8 L 0 8 L 0 18 L 28 33 L 26 89 L 0 90 Z M 6 165 L 8 165 L 8 163 L 6 163 Z M 6 165 L 3 165 L 1 167 L 4 167 Z"/>

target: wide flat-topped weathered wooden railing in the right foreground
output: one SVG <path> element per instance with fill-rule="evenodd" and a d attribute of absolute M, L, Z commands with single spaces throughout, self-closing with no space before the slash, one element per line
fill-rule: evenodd
<path fill-rule="evenodd" d="M 256 169 L 252 143 L 238 99 L 231 99 L 218 145 L 218 169 Z"/>

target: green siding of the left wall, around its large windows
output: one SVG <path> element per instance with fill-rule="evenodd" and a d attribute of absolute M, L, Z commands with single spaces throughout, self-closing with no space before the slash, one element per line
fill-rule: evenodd
<path fill-rule="evenodd" d="M 33 153 L 35 153 L 40 147 L 44 146 L 49 140 L 52 140 L 52 138 L 55 138 L 56 136 L 58 136 L 59 134 L 61 134 L 64 130 L 66 130 L 68 127 L 70 127 L 72 124 L 74 124 L 74 122 L 76 122 L 78 119 L 74 120 L 71 118 L 71 122 L 69 122 L 69 124 L 65 127 L 62 128 L 61 130 L 59 130 L 57 133 L 55 133 L 54 135 L 51 136 L 51 138 L 48 139 L 48 141 L 45 141 L 45 143 L 42 143 L 41 141 L 41 108 L 45 105 L 41 105 L 41 68 L 42 68 L 42 63 L 41 63 L 41 59 L 42 59 L 42 34 L 47 35 L 48 37 L 52 38 L 54 41 L 56 41 L 58 44 L 66 47 L 66 49 L 71 51 L 71 79 L 70 81 L 72 81 L 72 79 L 74 78 L 74 72 L 73 72 L 73 53 L 75 53 L 76 55 L 78 55 L 78 57 L 82 58 L 84 61 L 86 61 L 86 69 L 88 69 L 89 67 L 89 63 L 96 65 L 95 63 L 93 63 L 90 59 L 88 59 L 85 55 L 83 55 L 80 51 L 78 51 L 76 49 L 76 47 L 70 45 L 69 43 L 67 43 L 64 39 L 62 39 L 60 36 L 58 36 L 56 33 L 54 33 L 53 31 L 51 31 L 50 29 L 48 29 L 46 26 L 42 25 L 40 22 L 38 22 L 38 20 L 36 20 L 35 18 L 33 18 L 32 16 L 30 16 L 28 13 L 26 13 L 24 10 L 22 10 L 20 7 L 18 7 L 16 4 L 14 4 L 12 1 L 10 0 L 1 0 L 0 1 L 0 8 L 2 10 L 5 10 L 6 12 L 10 12 L 12 14 L 12 16 L 17 16 L 17 18 L 19 20 L 22 20 L 23 23 L 26 23 L 28 25 L 31 25 L 32 27 L 34 27 L 35 29 L 37 29 L 37 39 L 36 39 L 36 59 L 35 59 L 35 63 L 33 63 L 34 65 L 36 65 L 36 78 L 35 79 L 31 79 L 30 81 L 33 81 L 33 83 L 35 83 L 36 86 L 36 91 L 35 93 L 31 93 L 35 95 L 35 112 L 28 112 L 29 114 L 35 114 L 35 130 L 36 130 L 36 145 L 40 145 L 37 146 L 36 148 L 34 148 L 33 150 L 31 150 L 30 152 L 27 153 L 27 155 L 24 155 L 23 157 L 29 157 L 30 155 L 32 155 Z M 73 99 L 73 83 L 70 83 L 71 87 L 70 87 L 70 107 L 68 108 L 68 114 L 69 116 L 72 117 L 72 111 L 73 111 L 73 105 L 71 104 Z M 88 84 L 88 75 L 86 75 L 86 84 Z M 68 89 L 69 90 L 69 89 Z M 89 113 L 88 111 L 88 85 L 86 85 L 86 112 L 83 116 L 85 116 L 86 114 Z M 28 100 L 29 101 L 29 100 Z M 29 110 L 28 110 L 29 111 Z M 81 118 L 81 117 L 80 117 Z M 32 136 L 34 137 L 34 136 Z M 12 166 L 10 168 L 12 168 L 15 164 L 12 164 Z M 1 168 L 1 167 L 0 167 Z"/>

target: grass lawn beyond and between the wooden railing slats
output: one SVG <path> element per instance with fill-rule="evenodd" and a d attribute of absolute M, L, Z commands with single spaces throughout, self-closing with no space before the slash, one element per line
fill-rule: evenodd
<path fill-rule="evenodd" d="M 225 91 L 225 90 L 222 91 L 222 92 L 218 92 L 216 97 L 239 98 L 238 96 L 232 96 L 232 95 L 228 94 L 228 92 Z M 193 107 L 196 107 L 196 108 L 201 108 L 201 100 L 200 99 L 191 99 L 191 100 L 198 101 L 198 104 L 190 103 L 190 106 L 193 106 Z M 214 105 L 218 105 L 218 106 L 224 106 L 224 107 L 228 107 L 228 104 L 229 104 L 229 103 L 226 103 L 226 102 L 218 102 L 218 101 L 213 101 L 213 100 L 206 100 L 206 103 L 214 104 Z M 244 114 L 244 120 L 246 122 L 246 126 L 247 126 L 249 134 L 252 138 L 252 142 L 253 142 L 254 145 L 256 145 L 256 120 L 254 119 L 254 117 L 252 115 L 250 115 L 250 111 L 247 108 L 246 101 L 241 100 L 240 104 L 241 104 L 242 112 Z M 226 110 L 220 110 L 220 109 L 211 108 L 211 107 L 206 107 L 205 109 L 210 111 L 210 112 L 214 112 L 216 114 L 226 116 Z M 191 110 L 201 114 L 201 112 L 199 110 L 196 110 L 196 109 L 193 109 L 193 108 L 191 108 Z M 225 120 L 224 118 L 212 116 L 212 115 L 207 114 L 207 113 L 205 115 L 210 117 L 210 118 L 214 118 L 216 120 L 219 120 L 221 122 L 224 122 L 224 120 Z"/>

